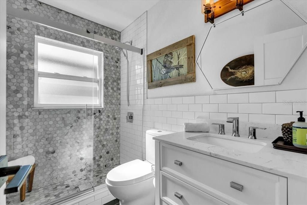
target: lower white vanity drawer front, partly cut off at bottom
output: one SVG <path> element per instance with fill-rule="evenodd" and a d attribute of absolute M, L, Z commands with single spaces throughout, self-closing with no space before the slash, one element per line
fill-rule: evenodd
<path fill-rule="evenodd" d="M 160 183 L 161 199 L 168 204 L 226 204 L 163 171 L 160 171 Z"/>

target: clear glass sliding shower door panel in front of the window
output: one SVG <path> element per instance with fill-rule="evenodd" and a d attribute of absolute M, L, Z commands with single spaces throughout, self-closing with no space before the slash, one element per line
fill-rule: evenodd
<path fill-rule="evenodd" d="M 102 65 L 94 41 L 7 16 L 7 154 L 9 161 L 32 156 L 36 165 L 32 191 L 23 202 L 19 193 L 7 195 L 8 204 L 45 204 L 93 190 Z"/>

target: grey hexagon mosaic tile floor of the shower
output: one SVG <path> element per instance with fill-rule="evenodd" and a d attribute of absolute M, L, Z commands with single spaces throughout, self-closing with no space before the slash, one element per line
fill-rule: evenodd
<path fill-rule="evenodd" d="M 115 166 L 107 167 L 102 170 L 95 171 L 93 173 L 93 181 L 91 180 L 91 174 L 77 177 L 64 182 L 52 184 L 47 187 L 33 189 L 31 192 L 25 193 L 25 200 L 21 202 L 19 200 L 19 192 L 6 195 L 6 204 L 10 205 L 42 205 L 48 202 L 61 199 L 68 195 L 79 192 L 78 186 L 87 182 L 93 184 L 94 187 L 104 184 L 107 173 Z M 34 176 L 35 177 L 35 176 Z"/>

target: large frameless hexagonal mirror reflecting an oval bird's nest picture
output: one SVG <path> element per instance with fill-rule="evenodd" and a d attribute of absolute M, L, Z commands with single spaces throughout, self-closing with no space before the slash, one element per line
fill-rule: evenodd
<path fill-rule="evenodd" d="M 281 84 L 306 50 L 306 20 L 283 1 L 256 2 L 210 27 L 196 64 L 212 89 Z"/>

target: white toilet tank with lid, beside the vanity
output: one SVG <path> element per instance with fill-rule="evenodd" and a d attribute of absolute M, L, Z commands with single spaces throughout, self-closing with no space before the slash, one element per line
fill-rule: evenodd
<path fill-rule="evenodd" d="M 162 131 L 162 130 L 147 130 L 146 131 L 146 160 L 152 164 L 154 164 L 154 153 L 155 153 L 155 149 L 154 149 L 154 142 L 155 140 L 153 140 L 153 137 L 157 137 L 157 136 L 161 136 L 161 135 L 168 135 L 168 134 L 172 134 L 174 132 L 169 132 L 169 131 Z"/>

